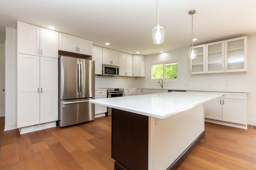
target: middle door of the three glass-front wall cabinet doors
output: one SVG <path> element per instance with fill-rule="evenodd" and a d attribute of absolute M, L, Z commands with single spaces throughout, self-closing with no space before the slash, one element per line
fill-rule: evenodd
<path fill-rule="evenodd" d="M 224 72 L 224 41 L 206 44 L 206 73 Z"/>

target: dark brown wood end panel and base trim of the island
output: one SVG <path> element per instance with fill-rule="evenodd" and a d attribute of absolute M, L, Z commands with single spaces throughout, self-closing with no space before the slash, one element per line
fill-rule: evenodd
<path fill-rule="evenodd" d="M 148 116 L 112 108 L 112 158 L 116 160 L 115 170 L 149 169 L 149 123 Z M 204 136 L 203 129 L 184 152 L 170 162 L 167 169 L 177 169 Z"/>

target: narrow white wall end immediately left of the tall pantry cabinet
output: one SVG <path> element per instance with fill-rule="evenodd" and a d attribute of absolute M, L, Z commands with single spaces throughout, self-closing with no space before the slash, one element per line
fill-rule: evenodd
<path fill-rule="evenodd" d="M 5 126 L 16 129 L 16 30 L 6 28 L 5 41 Z"/>

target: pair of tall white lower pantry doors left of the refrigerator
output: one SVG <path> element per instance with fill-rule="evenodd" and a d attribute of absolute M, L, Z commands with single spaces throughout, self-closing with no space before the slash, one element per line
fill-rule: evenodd
<path fill-rule="evenodd" d="M 18 54 L 17 127 L 57 120 L 58 59 Z"/>

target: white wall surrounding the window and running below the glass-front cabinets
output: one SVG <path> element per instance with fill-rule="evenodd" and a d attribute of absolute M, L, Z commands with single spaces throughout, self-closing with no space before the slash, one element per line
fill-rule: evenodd
<path fill-rule="evenodd" d="M 247 90 L 247 122 L 256 125 L 256 35 L 248 36 L 248 71 L 246 73 L 190 74 L 189 47 L 146 56 L 146 78 L 137 79 L 137 87 L 160 88 L 157 82 L 149 82 L 150 64 L 167 59 L 181 59 L 181 81 L 164 82 L 164 88 L 202 90 Z M 209 84 L 211 83 L 211 86 Z M 227 86 L 226 86 L 227 84 Z M 187 86 L 186 86 L 187 85 Z"/>

